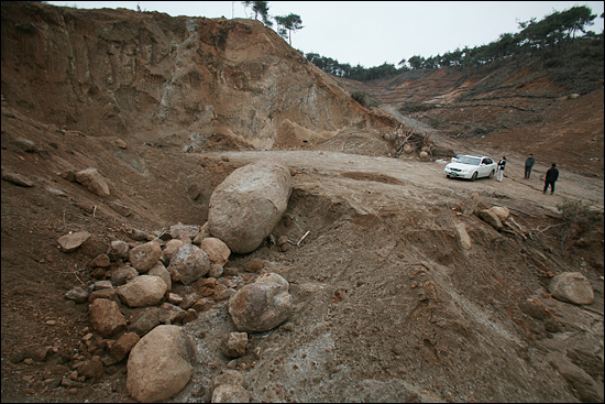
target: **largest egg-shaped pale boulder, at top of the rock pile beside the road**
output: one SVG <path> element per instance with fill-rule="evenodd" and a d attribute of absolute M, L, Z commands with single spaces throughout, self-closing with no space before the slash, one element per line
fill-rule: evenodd
<path fill-rule="evenodd" d="M 264 160 L 240 167 L 210 196 L 208 230 L 234 253 L 254 251 L 286 211 L 290 193 L 284 162 Z"/>

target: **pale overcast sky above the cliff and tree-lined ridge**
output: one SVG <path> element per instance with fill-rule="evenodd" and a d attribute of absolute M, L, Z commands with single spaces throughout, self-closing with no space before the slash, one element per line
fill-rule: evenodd
<path fill-rule="evenodd" d="M 127 8 L 173 17 L 252 18 L 241 1 L 47 1 L 78 9 Z M 437 56 L 475 47 L 503 33 L 519 32 L 518 21 L 538 21 L 553 11 L 587 6 L 596 14 L 588 30 L 603 32 L 603 1 L 268 1 L 270 15 L 300 15 L 304 29 L 293 47 L 341 64 L 363 67 L 405 58 Z M 248 14 L 246 14 L 248 13 Z"/>

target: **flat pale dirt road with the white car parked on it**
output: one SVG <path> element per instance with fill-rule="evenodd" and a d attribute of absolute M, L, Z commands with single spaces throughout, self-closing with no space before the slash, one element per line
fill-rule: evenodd
<path fill-rule="evenodd" d="M 324 195 L 345 198 L 359 209 L 380 209 L 391 204 L 455 204 L 473 193 L 494 197 L 518 209 L 536 206 L 558 212 L 557 206 L 568 200 L 582 200 L 603 209 L 603 182 L 561 171 L 554 195 L 543 195 L 547 167 L 537 165 L 530 179 L 524 179 L 522 161 L 509 159 L 502 183 L 495 178 L 476 182 L 447 178 L 448 162 L 419 162 L 416 157 L 369 157 L 322 151 L 267 151 L 204 153 L 202 156 L 227 156 L 233 163 L 251 163 L 278 157 L 299 174 L 295 186 L 314 188 Z M 437 195 L 437 197 L 436 197 Z M 363 201 L 363 204 L 362 204 Z"/>

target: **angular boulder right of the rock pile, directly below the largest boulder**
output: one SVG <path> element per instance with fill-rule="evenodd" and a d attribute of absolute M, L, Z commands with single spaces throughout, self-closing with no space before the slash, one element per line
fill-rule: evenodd
<path fill-rule="evenodd" d="M 229 314 L 241 332 L 263 332 L 288 319 L 293 312 L 289 284 L 276 273 L 266 273 L 239 290 L 229 299 Z"/>

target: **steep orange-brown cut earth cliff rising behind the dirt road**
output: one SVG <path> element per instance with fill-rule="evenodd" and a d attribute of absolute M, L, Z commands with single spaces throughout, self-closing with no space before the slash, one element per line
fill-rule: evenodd
<path fill-rule="evenodd" d="M 394 123 L 258 21 L 33 2 L 2 3 L 2 96 L 94 135 L 220 133 L 263 150 L 293 130 Z"/>

